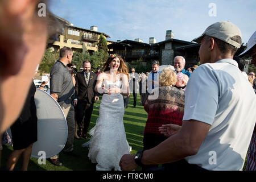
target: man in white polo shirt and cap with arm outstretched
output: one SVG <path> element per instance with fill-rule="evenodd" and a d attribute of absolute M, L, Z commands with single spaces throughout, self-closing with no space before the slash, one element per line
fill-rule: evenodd
<path fill-rule="evenodd" d="M 200 67 L 185 93 L 182 127 L 160 128 L 171 136 L 151 150 L 124 155 L 121 169 L 175 162 L 168 169 L 241 170 L 256 121 L 256 97 L 233 56 L 241 31 L 217 22 L 193 41 L 201 43 Z"/>

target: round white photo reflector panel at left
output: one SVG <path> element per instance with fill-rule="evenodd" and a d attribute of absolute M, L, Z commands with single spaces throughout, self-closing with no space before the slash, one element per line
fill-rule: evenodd
<path fill-rule="evenodd" d="M 65 115 L 55 99 L 43 90 L 36 89 L 36 115 L 38 117 L 38 141 L 32 146 L 31 156 L 39 158 L 40 152 L 51 158 L 63 150 L 68 138 Z"/>

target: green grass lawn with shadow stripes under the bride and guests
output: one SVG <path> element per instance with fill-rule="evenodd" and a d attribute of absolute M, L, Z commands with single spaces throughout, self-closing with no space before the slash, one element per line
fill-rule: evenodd
<path fill-rule="evenodd" d="M 131 154 L 136 154 L 137 151 L 143 149 L 143 131 L 144 126 L 147 121 L 147 113 L 144 111 L 143 106 L 140 105 L 141 100 L 140 96 L 138 94 L 137 96 L 137 107 L 133 107 L 133 94 L 131 94 L 130 100 L 129 100 L 129 107 L 125 110 L 125 115 L 123 117 L 123 122 L 125 124 L 125 131 L 126 131 L 126 137 L 127 140 L 132 147 Z M 98 117 L 99 107 L 96 107 L 96 105 L 100 106 L 99 104 L 94 104 L 92 119 L 90 122 L 89 130 L 96 124 L 96 119 Z M 85 170 L 85 171 L 95 171 L 96 170 L 96 164 L 93 164 L 90 162 L 88 158 L 88 148 L 81 147 L 81 144 L 84 142 L 87 142 L 88 139 L 80 139 L 74 140 L 74 148 L 79 154 L 81 154 L 81 158 L 75 158 L 73 156 L 68 156 L 63 154 L 63 152 L 60 152 L 60 161 L 63 162 L 64 166 L 56 167 L 53 166 L 51 163 L 46 160 L 46 165 L 38 164 L 38 159 L 32 158 L 30 159 L 30 164 L 28 165 L 28 170 L 30 171 L 79 171 L 79 170 Z M 12 147 L 3 147 L 2 151 L 2 160 L 1 160 L 1 167 L 3 168 L 6 164 L 6 160 L 11 154 L 11 151 L 13 150 Z M 18 164 L 16 165 L 15 169 L 21 168 L 21 159 L 19 159 Z M 141 168 L 138 168 L 137 170 L 140 170 Z"/>

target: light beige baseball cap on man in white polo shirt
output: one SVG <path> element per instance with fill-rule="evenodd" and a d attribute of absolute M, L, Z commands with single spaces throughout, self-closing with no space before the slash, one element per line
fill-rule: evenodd
<path fill-rule="evenodd" d="M 202 35 L 192 41 L 201 43 L 201 39 L 203 39 L 205 35 L 220 39 L 236 48 L 240 48 L 242 44 L 231 39 L 233 36 L 240 36 L 242 39 L 242 34 L 240 29 L 234 23 L 228 21 L 211 24 Z"/>

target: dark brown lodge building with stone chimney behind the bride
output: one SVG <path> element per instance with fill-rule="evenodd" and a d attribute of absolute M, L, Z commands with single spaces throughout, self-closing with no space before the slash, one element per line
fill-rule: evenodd
<path fill-rule="evenodd" d="M 117 40 L 108 45 L 109 53 L 118 53 L 128 63 L 140 60 L 145 65 L 153 60 L 158 60 L 160 65 L 173 65 L 174 57 L 184 56 L 186 60 L 185 69 L 199 62 L 198 51 L 200 44 L 174 39 L 171 30 L 166 31 L 166 40 L 156 43 L 154 37 L 149 38 L 148 43 L 142 39 Z"/>

